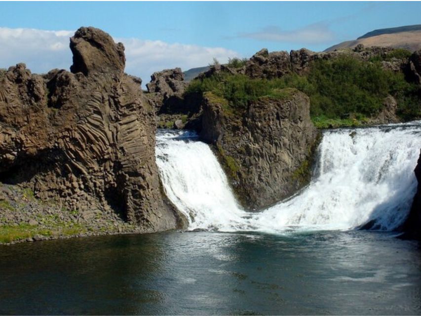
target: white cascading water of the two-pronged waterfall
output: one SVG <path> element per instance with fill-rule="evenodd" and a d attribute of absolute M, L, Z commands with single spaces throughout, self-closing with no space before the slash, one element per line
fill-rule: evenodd
<path fill-rule="evenodd" d="M 156 162 L 191 230 L 347 230 L 370 221 L 393 230 L 411 207 L 420 148 L 421 122 L 325 131 L 310 184 L 261 212 L 238 206 L 217 158 L 194 133 L 158 132 Z"/>

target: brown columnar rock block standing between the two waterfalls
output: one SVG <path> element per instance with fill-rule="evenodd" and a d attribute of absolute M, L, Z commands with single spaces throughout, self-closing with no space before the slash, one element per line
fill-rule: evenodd
<path fill-rule="evenodd" d="M 216 145 L 244 206 L 266 207 L 306 184 L 317 130 L 304 93 L 288 89 L 284 99 L 261 98 L 242 113 L 224 108 L 207 95 L 200 137 Z"/>

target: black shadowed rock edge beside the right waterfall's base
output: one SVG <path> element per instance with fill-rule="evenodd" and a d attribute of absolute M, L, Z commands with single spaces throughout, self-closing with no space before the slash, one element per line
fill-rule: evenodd
<path fill-rule="evenodd" d="M 403 225 L 404 234 L 402 237 L 421 240 L 421 152 L 414 172 L 418 180 L 418 188 L 409 216 Z"/>

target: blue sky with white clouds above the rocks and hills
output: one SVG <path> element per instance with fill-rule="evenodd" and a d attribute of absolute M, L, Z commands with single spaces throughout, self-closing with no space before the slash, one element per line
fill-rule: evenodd
<path fill-rule="evenodd" d="M 206 66 L 269 51 L 321 51 L 375 29 L 421 24 L 421 2 L 0 2 L 0 68 L 69 70 L 81 26 L 125 46 L 128 74 Z"/>

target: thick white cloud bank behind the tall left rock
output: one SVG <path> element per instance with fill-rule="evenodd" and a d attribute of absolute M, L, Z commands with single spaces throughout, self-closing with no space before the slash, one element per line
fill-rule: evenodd
<path fill-rule="evenodd" d="M 43 31 L 36 29 L 0 28 L 0 68 L 20 62 L 34 73 L 46 73 L 54 68 L 69 69 L 72 52 L 69 38 L 74 31 Z M 125 72 L 149 82 L 155 71 L 181 67 L 188 70 L 206 66 L 215 57 L 220 62 L 239 57 L 233 50 L 223 47 L 203 47 L 160 40 L 115 39 L 125 46 Z"/>

